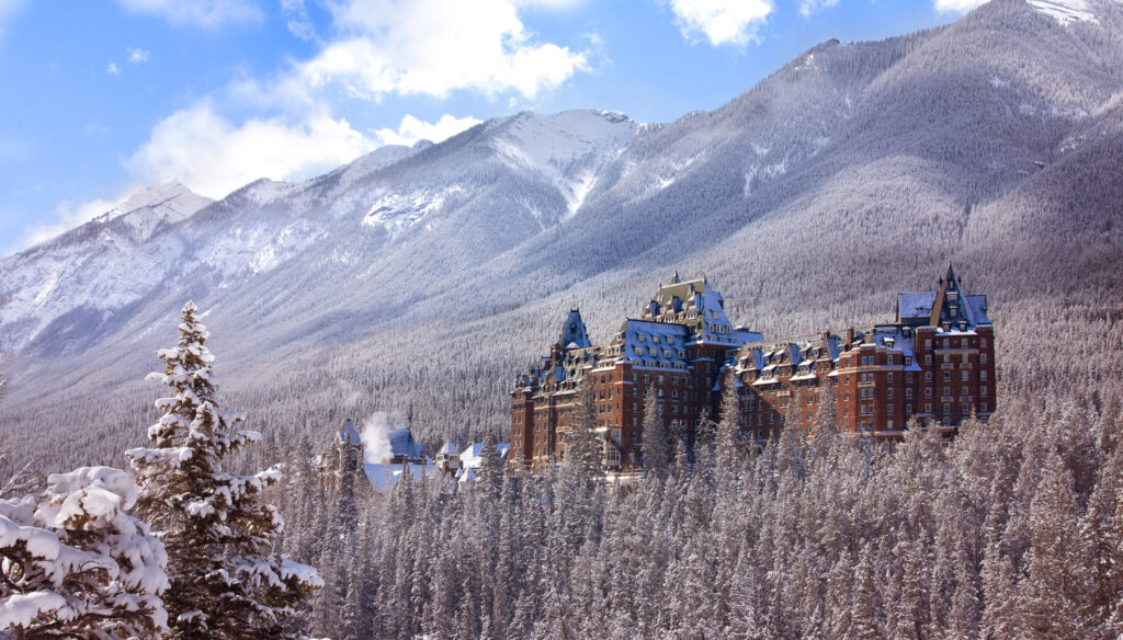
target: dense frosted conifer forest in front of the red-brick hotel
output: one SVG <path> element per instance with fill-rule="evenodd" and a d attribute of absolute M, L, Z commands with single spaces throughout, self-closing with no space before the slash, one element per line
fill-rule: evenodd
<path fill-rule="evenodd" d="M 570 467 L 400 483 L 353 527 L 294 484 L 285 551 L 339 639 L 1117 638 L 1119 390 L 1004 400 L 951 442 L 719 428 L 620 492 Z"/>

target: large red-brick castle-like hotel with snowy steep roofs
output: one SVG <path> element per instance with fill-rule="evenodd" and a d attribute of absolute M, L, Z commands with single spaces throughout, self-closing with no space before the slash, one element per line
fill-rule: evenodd
<path fill-rule="evenodd" d="M 690 438 L 703 411 L 718 417 L 725 375 L 737 380 L 743 430 L 761 441 L 793 426 L 785 421 L 810 431 L 831 397 L 842 431 L 874 438 L 900 438 L 913 418 L 951 431 L 971 414 L 986 420 L 994 412 L 986 296 L 964 291 L 950 266 L 938 291 L 900 294 L 894 322 L 842 333 L 765 340 L 734 327 L 724 307 L 704 278 L 675 274 L 639 318 L 596 346 L 572 310 L 549 356 L 515 382 L 511 464 L 544 468 L 564 458 L 586 386 L 610 469 L 641 466 L 648 393 L 668 432 Z"/>

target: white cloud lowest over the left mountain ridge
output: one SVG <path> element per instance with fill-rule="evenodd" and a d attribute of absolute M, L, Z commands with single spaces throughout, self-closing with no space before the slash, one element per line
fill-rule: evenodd
<path fill-rule="evenodd" d="M 180 180 L 221 198 L 259 177 L 300 180 L 373 150 L 377 143 L 326 112 L 300 121 L 249 119 L 235 126 L 209 102 L 172 113 L 125 162 L 145 184 Z"/>

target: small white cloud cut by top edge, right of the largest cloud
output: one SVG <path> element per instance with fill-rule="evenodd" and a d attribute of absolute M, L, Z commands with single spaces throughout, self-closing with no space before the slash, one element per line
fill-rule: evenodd
<path fill-rule="evenodd" d="M 773 11 L 772 0 L 670 0 L 675 21 L 690 42 L 745 46 Z"/>

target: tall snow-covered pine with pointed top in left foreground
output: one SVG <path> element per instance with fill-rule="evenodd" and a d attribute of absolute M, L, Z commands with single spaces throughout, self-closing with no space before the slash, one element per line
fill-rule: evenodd
<path fill-rule="evenodd" d="M 193 303 L 179 329 L 176 347 L 157 353 L 164 373 L 149 376 L 173 392 L 156 401 L 164 415 L 148 429 L 152 447 L 126 451 L 140 486 L 137 511 L 167 549 L 171 637 L 298 638 L 292 606 L 322 580 L 312 567 L 270 558 L 283 521 L 262 492 L 281 473 L 222 468 L 259 435 L 237 429 L 243 415 L 219 410 L 209 333 Z"/>

